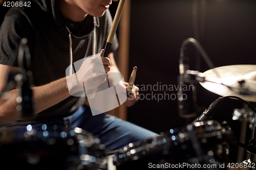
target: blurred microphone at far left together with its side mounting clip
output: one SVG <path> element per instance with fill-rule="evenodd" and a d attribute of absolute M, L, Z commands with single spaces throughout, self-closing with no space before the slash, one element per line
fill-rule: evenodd
<path fill-rule="evenodd" d="M 5 97 L 7 92 L 17 86 L 19 96 L 16 99 L 16 110 L 20 118 L 28 118 L 34 115 L 32 89 L 33 78 L 31 72 L 31 56 L 27 39 L 23 38 L 17 49 L 19 68 L 12 67 L 8 76 L 7 85 L 0 92 L 0 97 Z"/>

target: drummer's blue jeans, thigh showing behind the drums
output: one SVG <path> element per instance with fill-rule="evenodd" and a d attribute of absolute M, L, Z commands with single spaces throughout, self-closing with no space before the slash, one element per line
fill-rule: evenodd
<path fill-rule="evenodd" d="M 41 128 L 43 124 L 33 125 L 33 128 Z M 77 109 L 72 115 L 54 122 L 46 123 L 48 127 L 57 125 L 74 129 L 82 128 L 97 135 L 100 142 L 109 150 L 118 150 L 125 145 L 142 139 L 158 136 L 157 133 L 124 121 L 109 114 L 98 114 L 93 116 L 91 108 L 84 105 Z"/>

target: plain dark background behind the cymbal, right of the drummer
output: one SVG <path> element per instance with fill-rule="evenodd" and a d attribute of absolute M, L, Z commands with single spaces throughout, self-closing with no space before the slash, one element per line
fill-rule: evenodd
<path fill-rule="evenodd" d="M 114 4 L 112 9 L 115 8 Z M 196 17 L 193 17 L 193 9 L 197 11 Z M 129 72 L 132 72 L 133 66 L 138 67 L 135 84 L 139 87 L 153 86 L 157 82 L 178 85 L 180 47 L 189 37 L 200 41 L 216 67 L 256 64 L 256 1 L 131 1 Z M 188 57 L 190 69 L 200 72 L 209 69 L 193 45 L 188 45 Z M 148 90 L 140 93 L 146 95 L 152 92 Z M 155 93 L 164 94 L 164 91 Z M 200 114 L 218 98 L 219 95 L 197 83 Z M 191 123 L 194 118 L 179 117 L 177 106 L 177 100 L 140 100 L 128 109 L 127 120 L 156 133 Z M 232 120 L 232 111 L 242 106 L 237 100 L 227 99 L 214 117 L 219 122 L 226 120 L 238 139 L 241 123 Z M 248 144 L 248 140 L 246 142 Z M 236 162 L 238 147 L 230 147 L 230 156 L 233 155 L 231 162 Z"/>

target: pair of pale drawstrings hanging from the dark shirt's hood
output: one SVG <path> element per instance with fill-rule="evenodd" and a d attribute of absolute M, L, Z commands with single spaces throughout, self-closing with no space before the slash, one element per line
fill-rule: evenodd
<path fill-rule="evenodd" d="M 93 55 L 96 54 L 96 27 L 99 27 L 99 18 L 98 17 L 93 17 L 93 23 L 94 23 L 94 28 L 93 28 Z M 68 27 L 67 27 L 68 29 Z M 69 31 L 69 29 L 68 29 Z M 71 32 L 69 31 L 69 76 L 72 75 L 72 68 L 73 68 L 73 53 L 72 53 L 72 37 L 71 37 Z"/>

